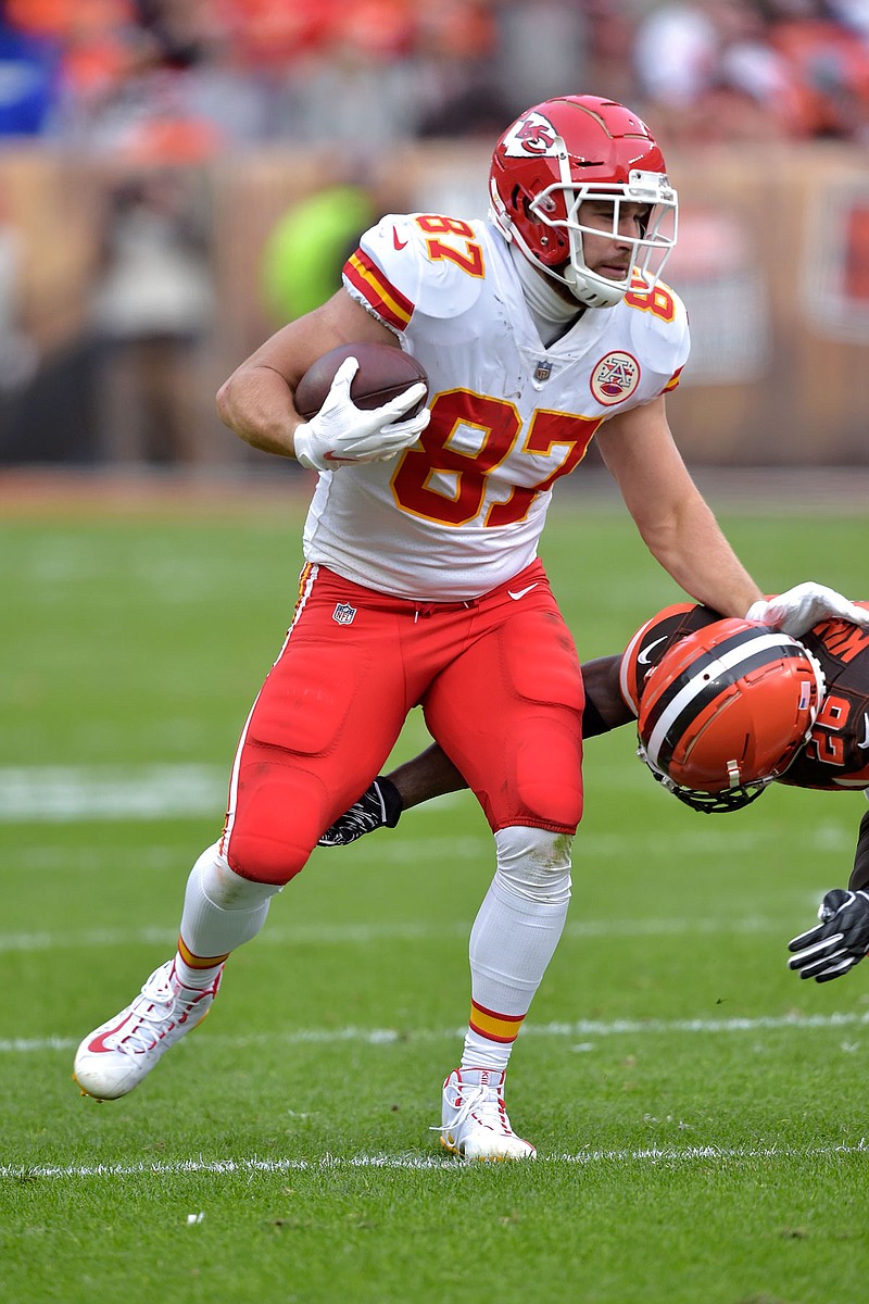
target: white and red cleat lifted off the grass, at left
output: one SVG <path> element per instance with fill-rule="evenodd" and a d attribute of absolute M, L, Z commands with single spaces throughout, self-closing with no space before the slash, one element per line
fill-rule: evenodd
<path fill-rule="evenodd" d="M 175 960 L 155 969 L 135 1000 L 100 1024 L 76 1052 L 73 1080 L 83 1095 L 116 1101 L 151 1072 L 185 1033 L 201 1024 L 218 995 L 223 965 L 203 991 L 182 987 Z"/>

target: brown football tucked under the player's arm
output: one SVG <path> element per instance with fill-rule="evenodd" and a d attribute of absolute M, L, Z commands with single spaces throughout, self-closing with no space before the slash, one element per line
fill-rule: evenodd
<path fill-rule="evenodd" d="M 391 344 L 341 344 L 340 348 L 332 348 L 318 357 L 296 386 L 296 411 L 305 420 L 322 408 L 335 373 L 345 357 L 356 357 L 360 364 L 350 383 L 350 398 L 357 407 L 365 411 L 382 407 L 420 381 L 425 385 L 426 393 L 405 416 L 413 416 L 425 407 L 429 398 L 429 377 L 416 357 L 403 353 Z"/>

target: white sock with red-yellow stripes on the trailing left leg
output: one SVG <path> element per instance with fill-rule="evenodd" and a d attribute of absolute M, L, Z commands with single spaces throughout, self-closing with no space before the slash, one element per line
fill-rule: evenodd
<path fill-rule="evenodd" d="M 253 883 L 229 868 L 218 844 L 202 853 L 190 871 L 184 895 L 175 973 L 185 987 L 207 987 L 227 955 L 255 938 L 268 914 L 275 883 Z M 189 958 L 212 960 L 211 965 Z"/>

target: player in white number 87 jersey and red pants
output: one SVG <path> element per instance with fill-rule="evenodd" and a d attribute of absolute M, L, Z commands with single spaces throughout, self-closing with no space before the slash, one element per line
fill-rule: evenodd
<path fill-rule="evenodd" d="M 676 193 L 645 124 L 568 95 L 498 141 L 491 220 L 384 218 L 322 308 L 225 382 L 223 420 L 318 471 L 289 635 L 244 728 L 220 840 L 189 879 L 177 953 L 82 1042 L 76 1077 L 124 1095 L 198 1022 L 229 952 L 324 828 L 383 767 L 421 703 L 495 838 L 470 935 L 472 1013 L 444 1084 L 442 1141 L 476 1159 L 533 1158 L 504 1107 L 511 1050 L 558 944 L 582 811 L 582 679 L 537 544 L 556 481 L 593 437 L 653 556 L 696 600 L 761 600 L 672 441 L 666 395 L 688 356 L 685 310 L 659 273 Z M 375 412 L 354 363 L 302 421 L 293 390 L 345 343 L 404 348 L 418 391 Z M 529 649 L 533 649 L 533 655 Z"/>

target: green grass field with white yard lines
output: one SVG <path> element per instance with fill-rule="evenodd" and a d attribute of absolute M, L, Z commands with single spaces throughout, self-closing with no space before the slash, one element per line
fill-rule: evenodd
<path fill-rule="evenodd" d="M 865 596 L 865 519 L 722 519 L 770 589 Z M 300 523 L 251 503 L 0 527 L 0 1299 L 865 1297 L 869 971 L 786 968 L 862 797 L 697 815 L 629 730 L 589 743 L 571 919 L 513 1056 L 535 1164 L 442 1158 L 429 1131 L 492 872 L 466 794 L 318 850 L 203 1028 L 124 1101 L 78 1095 L 76 1045 L 171 955 L 219 833 Z M 616 507 L 567 497 L 543 556 L 586 657 L 679 596 Z"/>

